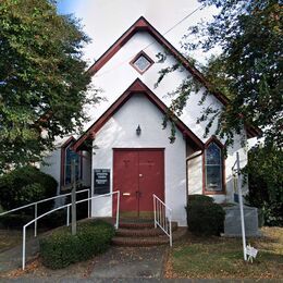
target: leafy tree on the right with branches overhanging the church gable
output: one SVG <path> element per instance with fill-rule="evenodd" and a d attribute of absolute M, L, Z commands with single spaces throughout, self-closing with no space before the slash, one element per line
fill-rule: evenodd
<path fill-rule="evenodd" d="M 222 50 L 221 56 L 212 59 L 205 69 L 212 84 L 200 103 L 211 91 L 221 90 L 230 98 L 229 107 L 223 111 L 207 108 L 199 121 L 209 120 L 210 127 L 217 119 L 217 134 L 225 136 L 226 144 L 233 143 L 234 133 L 238 133 L 246 124 L 263 130 L 266 144 L 282 147 L 282 1 L 198 1 L 204 8 L 216 5 L 219 13 L 211 22 L 190 27 L 183 47 L 186 51 L 199 48 L 209 51 L 216 46 Z M 171 110 L 182 112 L 189 93 L 198 88 L 199 82 L 193 78 L 184 82 L 175 91 Z"/>

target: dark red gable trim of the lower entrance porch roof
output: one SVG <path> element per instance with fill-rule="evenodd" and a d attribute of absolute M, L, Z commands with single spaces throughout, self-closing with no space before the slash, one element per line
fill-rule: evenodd
<path fill-rule="evenodd" d="M 144 94 L 157 108 L 164 114 L 168 113 L 168 107 L 139 79 L 137 78 L 118 100 L 83 134 L 73 145 L 73 149 L 83 150 L 86 140 L 94 139 L 96 133 L 116 113 L 121 107 L 135 94 Z M 177 118 L 175 118 L 176 127 L 183 133 L 183 136 L 190 143 L 195 149 L 202 149 L 202 142 Z M 161 126 L 161 125 L 160 125 Z"/>

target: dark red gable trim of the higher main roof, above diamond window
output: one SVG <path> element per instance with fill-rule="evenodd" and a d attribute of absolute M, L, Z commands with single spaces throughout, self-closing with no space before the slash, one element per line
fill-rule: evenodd
<path fill-rule="evenodd" d="M 94 75 L 98 72 L 136 33 L 149 33 L 161 46 L 164 47 L 174 58 L 206 88 L 209 89 L 217 99 L 224 106 L 229 103 L 229 98 L 219 91 L 213 91 L 212 85 L 204 77 L 204 75 L 192 65 L 185 57 L 183 57 L 149 22 L 140 16 L 89 69 L 88 73 Z M 247 136 L 258 136 L 261 131 L 251 125 L 246 125 Z"/>

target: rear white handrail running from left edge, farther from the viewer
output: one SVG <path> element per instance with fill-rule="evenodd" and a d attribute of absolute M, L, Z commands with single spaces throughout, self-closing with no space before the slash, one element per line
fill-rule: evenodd
<path fill-rule="evenodd" d="M 77 190 L 76 194 L 78 195 L 78 194 L 82 194 L 82 193 L 85 193 L 85 192 L 87 192 L 87 197 L 89 198 L 90 197 L 90 189 L 89 188 Z M 71 196 L 71 194 L 72 193 L 58 195 L 58 196 L 54 196 L 54 197 L 49 197 L 49 198 L 45 198 L 45 199 L 41 199 L 41 200 L 38 200 L 38 201 L 35 201 L 35 202 L 32 202 L 32 204 L 28 204 L 28 205 L 25 205 L 25 206 L 22 206 L 22 207 L 17 207 L 17 208 L 14 208 L 14 209 L 11 209 L 9 211 L 4 211 L 4 212 L 0 213 L 0 217 L 34 206 L 35 207 L 35 209 L 34 209 L 34 211 L 35 211 L 34 220 L 35 220 L 35 219 L 37 219 L 38 205 L 39 204 L 42 204 L 42 202 L 46 202 L 46 201 L 49 201 L 49 200 L 52 200 L 52 199 L 57 199 L 57 198 L 67 197 L 67 196 Z M 87 211 L 88 211 L 88 217 L 89 217 L 90 216 L 90 201 L 88 201 Z M 35 237 L 36 237 L 37 236 L 37 221 L 35 221 L 34 223 L 35 223 Z"/>

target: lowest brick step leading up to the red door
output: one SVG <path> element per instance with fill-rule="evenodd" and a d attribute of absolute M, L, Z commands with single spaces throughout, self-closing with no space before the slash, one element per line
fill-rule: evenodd
<path fill-rule="evenodd" d="M 173 232 L 173 243 L 182 238 L 187 232 L 186 227 L 177 227 Z M 155 236 L 114 236 L 112 239 L 113 245 L 127 246 L 127 247 L 147 247 L 169 244 L 169 236 L 164 233 Z"/>

